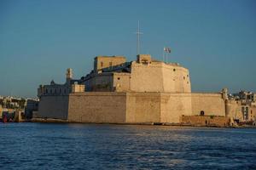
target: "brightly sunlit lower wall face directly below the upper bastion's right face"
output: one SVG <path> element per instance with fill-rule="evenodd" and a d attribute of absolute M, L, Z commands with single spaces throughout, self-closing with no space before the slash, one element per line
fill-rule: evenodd
<path fill-rule="evenodd" d="M 160 94 L 160 122 L 178 123 L 181 116 L 190 116 L 191 94 Z"/>

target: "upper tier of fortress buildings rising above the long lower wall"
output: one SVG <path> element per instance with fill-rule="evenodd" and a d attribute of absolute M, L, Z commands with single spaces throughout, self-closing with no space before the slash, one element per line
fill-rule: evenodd
<path fill-rule="evenodd" d="M 100 56 L 94 63 L 94 71 L 82 77 L 88 92 L 191 92 L 188 69 L 151 59 L 148 54 L 131 62 L 121 56 Z"/>

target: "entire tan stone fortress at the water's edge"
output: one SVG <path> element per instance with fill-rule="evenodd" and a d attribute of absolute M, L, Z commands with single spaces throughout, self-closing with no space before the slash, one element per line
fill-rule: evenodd
<path fill-rule="evenodd" d="M 201 124 L 227 126 L 255 121 L 256 107 L 220 93 L 191 93 L 189 70 L 138 54 L 97 56 L 94 69 L 65 84 L 40 85 L 38 118 L 67 122 Z M 255 103 L 255 102 L 254 102 Z"/>

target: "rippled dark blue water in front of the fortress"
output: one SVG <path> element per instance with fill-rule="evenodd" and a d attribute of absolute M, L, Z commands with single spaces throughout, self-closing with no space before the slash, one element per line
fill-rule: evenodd
<path fill-rule="evenodd" d="M 0 169 L 256 169 L 256 129 L 0 123 Z"/>

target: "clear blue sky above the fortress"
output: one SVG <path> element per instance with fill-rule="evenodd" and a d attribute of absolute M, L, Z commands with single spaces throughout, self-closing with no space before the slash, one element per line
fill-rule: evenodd
<path fill-rule="evenodd" d="M 0 95 L 33 97 L 39 84 L 92 69 L 96 55 L 142 54 L 189 68 L 194 92 L 256 91 L 254 0 L 1 0 Z"/>

